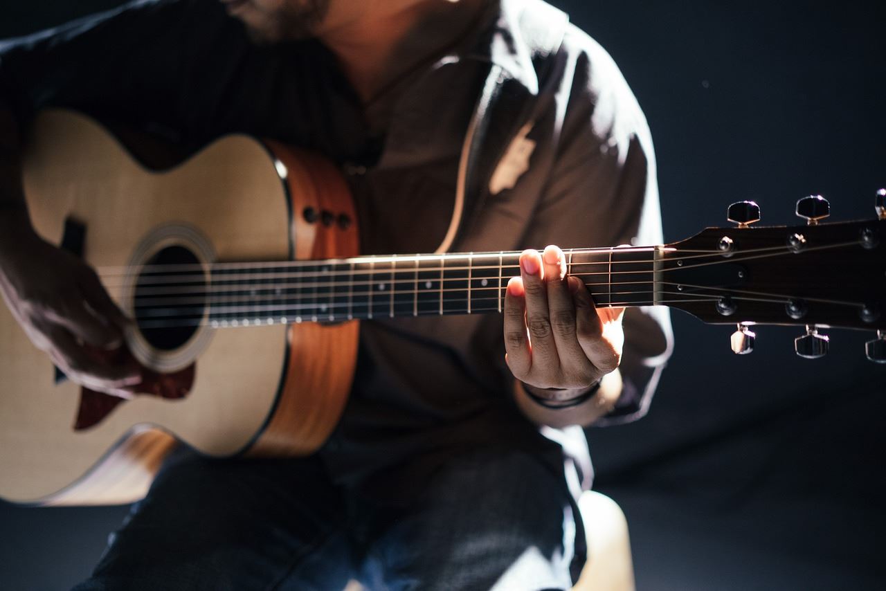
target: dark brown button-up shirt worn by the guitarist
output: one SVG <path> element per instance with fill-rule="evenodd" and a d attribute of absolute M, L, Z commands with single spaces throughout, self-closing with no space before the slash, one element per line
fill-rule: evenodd
<path fill-rule="evenodd" d="M 0 93 L 23 122 L 57 105 L 190 149 L 240 132 L 322 152 L 349 175 L 363 253 L 427 253 L 447 234 L 466 129 L 494 69 L 540 105 L 517 138 L 528 168 L 510 188 L 484 188 L 449 250 L 659 244 L 649 129 L 624 78 L 571 26 L 564 66 L 540 78 L 522 4 L 490 3 L 455 47 L 369 107 L 322 44 L 250 43 L 213 0 L 136 2 L 0 44 Z M 669 351 L 660 309 L 629 310 L 625 332 L 625 393 L 602 422 L 645 412 Z M 511 400 L 501 333 L 495 314 L 362 323 L 354 392 L 323 450 L 330 470 L 354 481 L 481 445 L 561 462 Z"/>

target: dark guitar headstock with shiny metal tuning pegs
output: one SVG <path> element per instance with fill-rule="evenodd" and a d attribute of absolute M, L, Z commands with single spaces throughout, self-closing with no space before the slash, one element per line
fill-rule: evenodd
<path fill-rule="evenodd" d="M 753 350 L 753 324 L 804 327 L 797 354 L 828 353 L 820 329 L 875 330 L 867 358 L 886 363 L 886 190 L 877 192 L 877 218 L 820 223 L 828 201 L 797 201 L 799 226 L 754 227 L 752 201 L 729 206 L 734 228 L 708 228 L 664 247 L 657 263 L 657 303 L 677 307 L 706 323 L 737 324 L 736 354 Z"/>

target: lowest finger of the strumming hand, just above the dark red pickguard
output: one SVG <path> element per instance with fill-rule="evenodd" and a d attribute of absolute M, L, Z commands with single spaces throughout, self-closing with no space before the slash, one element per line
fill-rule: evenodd
<path fill-rule="evenodd" d="M 51 331 L 50 337 L 53 362 L 77 384 L 100 392 L 116 392 L 141 382 L 138 368 L 97 361 L 67 330 L 57 327 Z"/>

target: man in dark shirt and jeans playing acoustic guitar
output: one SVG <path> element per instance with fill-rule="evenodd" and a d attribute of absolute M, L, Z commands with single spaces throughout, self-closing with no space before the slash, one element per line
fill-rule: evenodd
<path fill-rule="evenodd" d="M 74 382 L 136 392 L 136 368 L 93 354 L 132 321 L 29 222 L 20 152 L 49 105 L 189 152 L 229 133 L 321 152 L 347 175 L 362 253 L 660 244 L 639 106 L 558 16 L 535 0 L 143 0 L 0 44 L 7 305 Z M 532 34 L 556 27 L 543 51 Z M 496 137 L 502 120 L 513 132 Z M 479 198 L 453 232 L 458 194 Z M 595 308 L 566 262 L 559 246 L 525 251 L 502 316 L 363 323 L 353 393 L 318 453 L 180 449 L 77 588 L 570 587 L 591 476 L 576 425 L 641 416 L 671 339 L 660 309 Z"/>

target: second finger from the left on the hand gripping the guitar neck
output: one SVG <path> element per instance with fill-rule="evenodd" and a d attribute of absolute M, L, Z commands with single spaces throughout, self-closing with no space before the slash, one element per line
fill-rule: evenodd
<path fill-rule="evenodd" d="M 526 250 L 520 254 L 520 276 L 526 300 L 526 329 L 532 345 L 532 370 L 543 371 L 552 377 L 560 370 L 560 358 L 551 334 L 548 316 L 548 288 L 544 282 L 544 267 L 538 252 Z"/>

